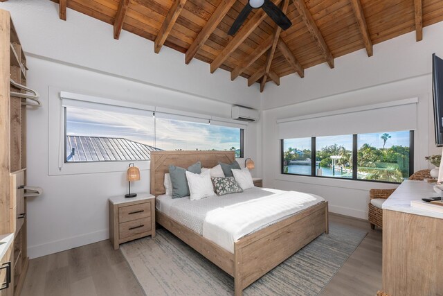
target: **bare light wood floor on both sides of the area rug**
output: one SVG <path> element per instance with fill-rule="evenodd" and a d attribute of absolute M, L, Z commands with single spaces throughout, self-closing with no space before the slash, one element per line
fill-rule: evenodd
<path fill-rule="evenodd" d="M 330 214 L 330 221 L 368 231 L 320 295 L 374 296 L 381 289 L 381 230 L 364 220 Z M 120 250 L 109 241 L 30 260 L 22 296 L 144 295 Z"/>

